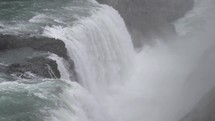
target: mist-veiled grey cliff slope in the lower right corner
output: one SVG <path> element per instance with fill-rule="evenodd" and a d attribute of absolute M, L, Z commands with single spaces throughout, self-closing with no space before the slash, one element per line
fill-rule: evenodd
<path fill-rule="evenodd" d="M 215 120 L 215 45 L 209 48 L 198 66 L 188 77 L 186 94 L 188 98 L 199 100 L 192 111 L 181 121 Z M 187 99 L 189 101 L 189 99 Z"/>

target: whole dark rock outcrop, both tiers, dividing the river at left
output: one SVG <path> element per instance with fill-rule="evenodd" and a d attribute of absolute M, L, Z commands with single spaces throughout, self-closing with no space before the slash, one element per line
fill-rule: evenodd
<path fill-rule="evenodd" d="M 68 58 L 63 41 L 46 37 L 0 34 L 0 55 L 3 56 L 1 61 L 9 64 L 6 69 L 0 68 L 0 71 L 6 74 L 21 78 L 33 78 L 28 74 L 31 72 L 39 77 L 60 78 L 57 64 L 54 60 L 47 58 L 48 53 L 63 57 L 68 63 L 72 79 L 77 80 L 74 62 Z M 16 56 L 13 56 L 14 54 Z"/>

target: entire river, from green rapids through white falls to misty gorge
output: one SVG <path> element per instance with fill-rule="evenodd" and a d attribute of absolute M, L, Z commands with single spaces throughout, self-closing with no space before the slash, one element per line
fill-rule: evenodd
<path fill-rule="evenodd" d="M 214 5 L 196 0 L 174 23 L 178 37 L 165 43 L 158 38 L 136 52 L 120 14 L 107 5 L 1 0 L 0 33 L 62 40 L 78 78 L 70 79 L 67 63 L 57 55 L 50 58 L 61 79 L 9 81 L 0 75 L 0 121 L 179 120 L 189 105 L 180 101 L 186 78 L 214 43 Z"/>

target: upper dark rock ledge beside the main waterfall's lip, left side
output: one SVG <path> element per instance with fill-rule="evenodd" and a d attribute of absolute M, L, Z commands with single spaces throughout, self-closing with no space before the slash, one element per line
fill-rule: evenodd
<path fill-rule="evenodd" d="M 55 53 L 68 59 L 67 50 L 63 41 L 46 37 L 29 37 L 0 34 L 0 51 L 29 47 L 38 51 Z"/>

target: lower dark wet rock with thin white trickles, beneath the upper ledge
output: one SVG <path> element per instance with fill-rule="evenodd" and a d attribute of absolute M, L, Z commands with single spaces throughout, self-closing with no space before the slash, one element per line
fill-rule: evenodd
<path fill-rule="evenodd" d="M 8 65 L 4 71 L 7 74 L 26 79 L 31 78 L 31 75 L 26 72 L 35 74 L 36 77 L 60 78 L 61 75 L 57 67 L 57 63 L 54 60 L 44 57 L 35 57 L 23 63 Z"/>

